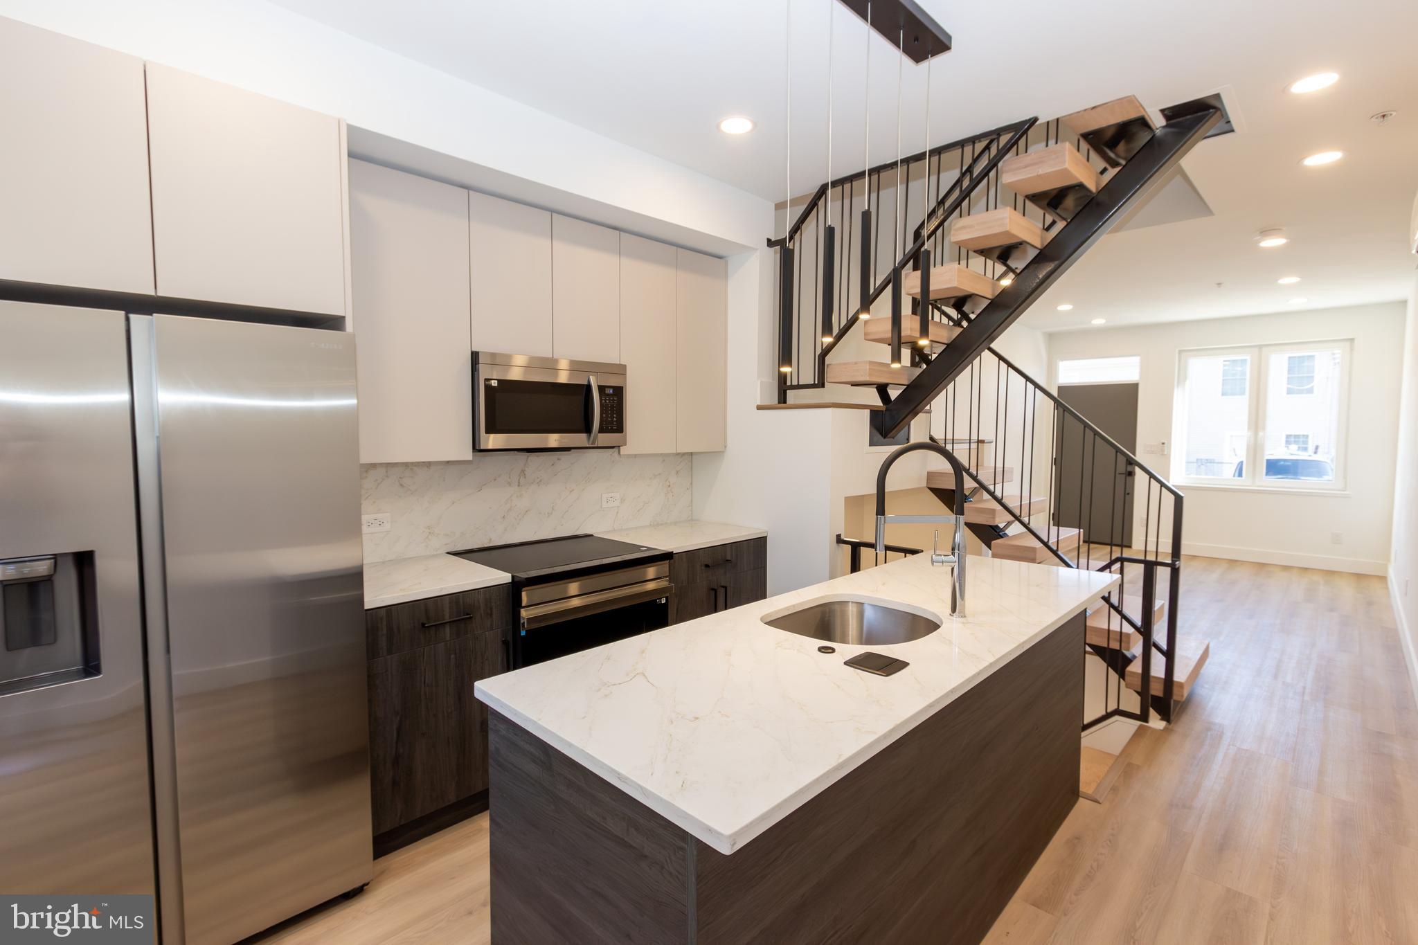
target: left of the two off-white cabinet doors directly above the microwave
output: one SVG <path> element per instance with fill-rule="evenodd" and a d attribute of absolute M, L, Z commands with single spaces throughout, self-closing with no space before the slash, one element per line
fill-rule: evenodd
<path fill-rule="evenodd" d="M 469 194 L 472 350 L 552 357 L 552 214 Z"/>

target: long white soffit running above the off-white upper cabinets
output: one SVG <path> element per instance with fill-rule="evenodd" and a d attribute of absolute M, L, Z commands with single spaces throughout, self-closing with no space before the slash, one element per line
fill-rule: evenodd
<path fill-rule="evenodd" d="M 458 174 L 457 183 L 706 252 L 759 247 L 773 225 L 766 200 L 271 3 L 0 0 L 0 16 L 335 115 L 488 171 L 484 180 Z"/>

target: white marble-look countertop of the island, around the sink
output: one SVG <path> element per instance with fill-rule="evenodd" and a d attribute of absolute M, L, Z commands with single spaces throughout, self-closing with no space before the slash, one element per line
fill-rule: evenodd
<path fill-rule="evenodd" d="M 1117 585 L 995 558 L 970 558 L 967 579 L 959 619 L 950 570 L 922 554 L 485 679 L 475 693 L 733 853 Z M 943 625 L 910 643 L 822 655 L 820 640 L 760 619 L 837 595 L 905 604 Z M 910 666 L 882 677 L 842 664 L 866 649 Z"/>

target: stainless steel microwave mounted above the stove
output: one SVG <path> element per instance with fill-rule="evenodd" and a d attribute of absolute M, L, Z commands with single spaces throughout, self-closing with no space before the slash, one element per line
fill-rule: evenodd
<path fill-rule="evenodd" d="M 625 445 L 625 366 L 472 353 L 479 451 Z"/>

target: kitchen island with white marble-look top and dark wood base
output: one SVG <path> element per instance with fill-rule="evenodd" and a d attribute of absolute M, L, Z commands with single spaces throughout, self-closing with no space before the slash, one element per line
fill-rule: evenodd
<path fill-rule="evenodd" d="M 978 941 L 1078 799 L 1116 582 L 973 558 L 951 618 L 916 555 L 478 683 L 495 941 Z M 943 625 L 821 653 L 763 623 L 834 596 Z"/>

